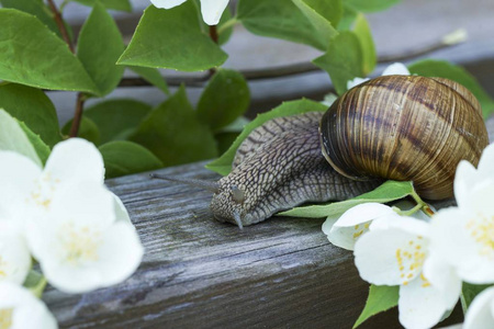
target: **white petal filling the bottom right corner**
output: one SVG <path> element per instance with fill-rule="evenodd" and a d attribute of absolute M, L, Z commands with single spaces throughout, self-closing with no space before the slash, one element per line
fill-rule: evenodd
<path fill-rule="evenodd" d="M 494 286 L 473 299 L 464 317 L 463 329 L 494 328 Z"/>

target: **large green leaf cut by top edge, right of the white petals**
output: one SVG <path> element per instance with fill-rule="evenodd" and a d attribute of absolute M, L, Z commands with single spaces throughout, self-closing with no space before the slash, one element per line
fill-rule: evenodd
<path fill-rule="evenodd" d="M 278 37 L 295 43 L 306 44 L 325 50 L 332 35 L 337 31 L 332 26 L 328 16 L 340 13 L 328 13 L 328 8 L 338 8 L 338 1 L 323 2 L 317 0 L 240 0 L 237 8 L 237 20 L 254 34 Z M 297 7 L 299 5 L 299 7 Z"/>

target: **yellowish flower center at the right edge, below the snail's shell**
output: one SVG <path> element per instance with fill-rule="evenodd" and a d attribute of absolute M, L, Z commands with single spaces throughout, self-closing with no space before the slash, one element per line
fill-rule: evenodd
<path fill-rule="evenodd" d="M 470 236 L 479 245 L 479 253 L 494 259 L 494 216 L 487 218 L 484 214 L 479 213 L 473 219 L 467 223 L 467 229 Z"/>

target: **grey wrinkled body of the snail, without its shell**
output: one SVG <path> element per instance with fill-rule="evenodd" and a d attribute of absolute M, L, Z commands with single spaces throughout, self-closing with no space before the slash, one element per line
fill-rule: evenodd
<path fill-rule="evenodd" d="M 322 112 L 273 118 L 252 131 L 237 150 L 232 172 L 218 181 L 211 209 L 220 222 L 248 226 L 304 202 L 346 200 L 379 180 L 356 182 L 337 173 L 319 144 Z M 244 200 L 234 197 L 240 190 Z M 236 200 L 237 198 L 237 200 Z"/>

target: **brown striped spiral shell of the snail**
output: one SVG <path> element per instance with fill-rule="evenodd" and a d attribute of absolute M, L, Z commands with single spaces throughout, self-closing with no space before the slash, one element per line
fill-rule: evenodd
<path fill-rule="evenodd" d="M 412 180 L 423 197 L 452 196 L 460 160 L 478 164 L 489 144 L 481 106 L 444 78 L 385 76 L 341 95 L 321 121 L 323 154 L 356 180 Z"/>

